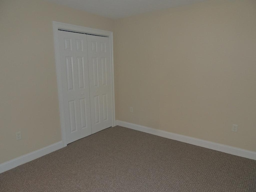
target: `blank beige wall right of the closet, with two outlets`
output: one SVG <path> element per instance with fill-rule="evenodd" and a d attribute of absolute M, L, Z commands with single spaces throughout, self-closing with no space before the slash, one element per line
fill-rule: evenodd
<path fill-rule="evenodd" d="M 256 1 L 117 20 L 114 62 L 116 119 L 256 151 Z"/>

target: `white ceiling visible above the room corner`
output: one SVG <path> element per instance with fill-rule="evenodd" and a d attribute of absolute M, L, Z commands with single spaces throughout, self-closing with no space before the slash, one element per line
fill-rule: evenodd
<path fill-rule="evenodd" d="M 48 0 L 100 16 L 119 19 L 205 0 Z"/>

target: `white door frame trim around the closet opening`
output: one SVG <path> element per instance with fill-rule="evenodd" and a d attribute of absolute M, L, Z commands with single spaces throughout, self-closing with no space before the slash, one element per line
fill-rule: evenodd
<path fill-rule="evenodd" d="M 60 107 L 60 126 L 61 126 L 61 132 L 62 132 L 63 147 L 65 147 L 67 146 L 67 140 L 66 140 L 66 125 L 65 125 L 65 116 L 64 116 L 64 101 L 63 101 L 63 92 L 62 92 L 62 79 L 61 79 L 61 70 L 60 70 L 60 50 L 59 50 L 58 30 L 62 29 L 62 30 L 68 30 L 73 32 L 82 32 L 86 34 L 107 36 L 109 38 L 112 127 L 116 125 L 115 94 L 114 94 L 113 32 L 93 29 L 88 27 L 82 27 L 77 25 L 71 25 L 66 23 L 60 23 L 55 21 L 53 21 L 52 23 L 53 23 L 53 34 L 54 34 L 54 48 L 55 48 L 57 82 L 58 82 L 59 107 Z"/>

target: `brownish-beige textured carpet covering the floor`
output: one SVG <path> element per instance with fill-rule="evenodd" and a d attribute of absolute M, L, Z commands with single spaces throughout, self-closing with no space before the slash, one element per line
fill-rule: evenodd
<path fill-rule="evenodd" d="M 3 192 L 256 192 L 256 161 L 116 126 L 0 174 Z"/>

